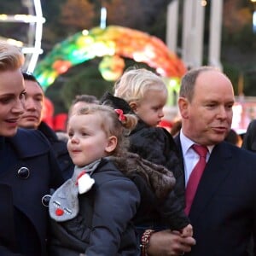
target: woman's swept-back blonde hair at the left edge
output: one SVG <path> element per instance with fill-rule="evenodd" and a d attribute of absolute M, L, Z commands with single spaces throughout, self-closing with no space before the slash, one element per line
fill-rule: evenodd
<path fill-rule="evenodd" d="M 18 47 L 0 41 L 0 72 L 18 69 L 24 61 L 24 55 Z"/>

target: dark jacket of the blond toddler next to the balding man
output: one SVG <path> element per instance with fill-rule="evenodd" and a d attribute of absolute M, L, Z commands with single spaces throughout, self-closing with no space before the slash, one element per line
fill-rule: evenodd
<path fill-rule="evenodd" d="M 134 113 L 125 100 L 115 97 L 108 92 L 102 96 L 101 103 L 110 105 L 113 108 L 120 108 L 124 113 Z M 142 119 L 139 119 L 136 128 L 131 131 L 129 138 L 131 152 L 139 154 L 143 159 L 149 160 L 154 164 L 165 166 L 173 173 L 176 178 L 176 184 L 174 192 L 172 191 L 169 197 L 172 198 L 173 203 L 177 206 L 177 211 L 180 211 L 181 208 L 183 209 L 185 187 L 183 168 L 176 143 L 171 134 L 164 128 L 150 127 Z M 144 200 L 145 198 L 143 198 Z M 183 215 L 183 224 L 181 224 L 180 219 L 177 224 L 173 224 L 173 228 L 185 226 L 185 224 L 189 223 L 186 215 L 184 213 L 181 214 Z M 148 228 L 164 229 L 165 227 L 170 227 L 168 223 L 163 223 L 159 212 L 153 209 L 151 209 L 151 212 L 147 212 L 145 209 L 144 214 L 137 216 L 135 223 L 140 232 Z"/>

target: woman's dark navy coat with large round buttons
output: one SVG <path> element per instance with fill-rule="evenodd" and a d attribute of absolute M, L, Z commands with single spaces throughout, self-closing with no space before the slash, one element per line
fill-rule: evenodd
<path fill-rule="evenodd" d="M 64 181 L 54 153 L 40 131 L 18 129 L 0 137 L 0 163 L 0 255 L 45 256 L 44 195 Z"/>

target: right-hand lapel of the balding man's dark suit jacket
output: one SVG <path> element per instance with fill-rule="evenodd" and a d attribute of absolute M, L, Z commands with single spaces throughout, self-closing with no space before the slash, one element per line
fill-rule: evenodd
<path fill-rule="evenodd" d="M 201 212 L 210 203 L 212 196 L 218 192 L 218 187 L 224 183 L 225 178 L 234 168 L 231 159 L 232 154 L 226 143 L 220 143 L 213 148 L 189 212 L 191 220 L 195 221 L 201 216 Z"/>

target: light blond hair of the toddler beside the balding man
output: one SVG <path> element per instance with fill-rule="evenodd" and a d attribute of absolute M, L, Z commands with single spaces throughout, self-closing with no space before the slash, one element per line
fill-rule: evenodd
<path fill-rule="evenodd" d="M 166 91 L 166 84 L 159 75 L 145 68 L 129 68 L 114 84 L 114 96 L 125 102 L 141 102 L 148 90 Z"/>

